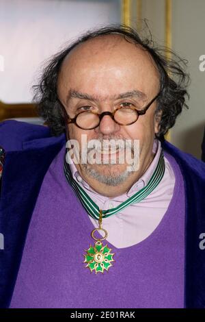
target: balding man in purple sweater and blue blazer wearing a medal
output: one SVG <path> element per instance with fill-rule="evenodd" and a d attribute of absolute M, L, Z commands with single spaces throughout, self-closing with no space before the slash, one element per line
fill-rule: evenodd
<path fill-rule="evenodd" d="M 205 306 L 205 167 L 163 139 L 187 83 L 126 27 L 55 55 L 36 88 L 49 127 L 0 127 L 1 306 Z"/>

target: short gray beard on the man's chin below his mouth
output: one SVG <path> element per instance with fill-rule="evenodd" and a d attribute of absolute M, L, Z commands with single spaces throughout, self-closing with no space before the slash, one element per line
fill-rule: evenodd
<path fill-rule="evenodd" d="M 109 175 L 102 175 L 95 169 L 92 169 L 90 164 L 81 164 L 81 166 L 88 176 L 93 177 L 101 184 L 106 184 L 107 186 L 119 186 L 119 184 L 122 184 L 132 174 L 131 171 L 125 170 L 120 175 L 113 175 L 111 173 Z M 107 164 L 107 166 L 111 169 L 113 165 Z"/>

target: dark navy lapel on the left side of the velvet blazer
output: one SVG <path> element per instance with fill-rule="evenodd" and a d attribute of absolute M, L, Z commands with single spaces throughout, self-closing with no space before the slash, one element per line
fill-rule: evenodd
<path fill-rule="evenodd" d="M 33 208 L 49 165 L 65 136 L 25 143 L 25 150 L 6 154 L 0 202 L 0 307 L 10 304 Z"/>

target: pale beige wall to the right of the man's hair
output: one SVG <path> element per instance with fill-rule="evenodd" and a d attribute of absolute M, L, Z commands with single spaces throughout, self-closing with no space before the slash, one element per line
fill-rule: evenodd
<path fill-rule="evenodd" d="M 184 109 L 178 117 L 170 133 L 171 143 L 201 158 L 205 126 L 205 71 L 200 71 L 199 66 L 200 56 L 205 55 L 205 1 L 168 2 L 172 5 L 172 49 L 189 61 L 191 76 L 189 110 Z M 137 16 L 146 18 L 153 39 L 160 45 L 165 45 L 165 3 L 165 0 L 131 1 L 132 25 L 136 25 Z"/>

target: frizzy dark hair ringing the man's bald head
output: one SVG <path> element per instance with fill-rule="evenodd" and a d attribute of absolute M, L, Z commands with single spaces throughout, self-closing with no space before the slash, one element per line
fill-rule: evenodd
<path fill-rule="evenodd" d="M 100 29 L 88 31 L 71 45 L 53 55 L 44 67 L 40 82 L 33 86 L 34 102 L 37 103 L 38 114 L 51 128 L 51 134 L 62 134 L 66 125 L 64 122 L 64 107 L 57 97 L 57 79 L 61 64 L 66 55 L 77 45 L 92 38 L 118 34 L 128 42 L 141 45 L 141 48 L 150 53 L 160 75 L 161 95 L 157 99 L 156 116 L 161 114 L 160 130 L 157 136 L 163 138 L 164 134 L 175 124 L 176 117 L 182 108 L 188 108 L 185 97 L 189 98 L 187 86 L 189 75 L 185 72 L 187 60 L 183 60 L 174 51 L 165 47 L 154 47 L 152 36 L 141 38 L 137 31 L 125 25 L 109 25 Z"/>

